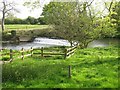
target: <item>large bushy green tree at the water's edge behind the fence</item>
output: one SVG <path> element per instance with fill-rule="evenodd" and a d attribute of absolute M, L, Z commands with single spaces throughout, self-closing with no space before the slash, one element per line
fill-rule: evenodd
<path fill-rule="evenodd" d="M 43 15 L 57 35 L 67 39 L 71 45 L 73 41 L 79 41 L 81 46 L 86 47 L 94 38 L 93 23 L 87 12 L 91 3 L 51 2 L 43 8 Z"/>

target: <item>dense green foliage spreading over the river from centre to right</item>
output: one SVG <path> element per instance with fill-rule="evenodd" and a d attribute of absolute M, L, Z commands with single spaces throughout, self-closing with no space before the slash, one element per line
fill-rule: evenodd
<path fill-rule="evenodd" d="M 58 36 L 71 43 L 78 41 L 84 48 L 95 39 L 115 35 L 110 17 L 94 16 L 90 6 L 89 2 L 51 2 L 44 7 L 43 15 Z"/>

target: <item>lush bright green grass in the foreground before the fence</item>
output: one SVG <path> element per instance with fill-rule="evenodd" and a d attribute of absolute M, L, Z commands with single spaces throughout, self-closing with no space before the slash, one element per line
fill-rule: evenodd
<path fill-rule="evenodd" d="M 117 88 L 118 47 L 77 49 L 62 57 L 28 57 L 3 65 L 4 88 Z M 68 77 L 71 65 L 72 77 Z"/>

